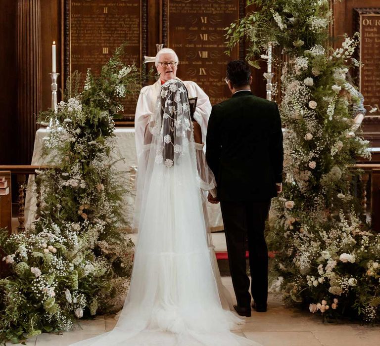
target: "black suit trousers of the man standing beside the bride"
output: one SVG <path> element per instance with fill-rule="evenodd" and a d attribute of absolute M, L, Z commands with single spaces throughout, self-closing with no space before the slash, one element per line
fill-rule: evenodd
<path fill-rule="evenodd" d="M 251 294 L 257 304 L 268 299 L 268 248 L 265 241 L 265 220 L 271 200 L 264 202 L 220 202 L 227 242 L 230 273 L 238 305 L 249 307 L 249 278 L 245 251 L 249 251 Z"/>

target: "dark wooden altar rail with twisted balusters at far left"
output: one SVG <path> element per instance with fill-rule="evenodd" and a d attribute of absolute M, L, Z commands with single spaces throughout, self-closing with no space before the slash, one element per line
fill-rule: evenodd
<path fill-rule="evenodd" d="M 17 231 L 21 232 L 25 230 L 25 187 L 26 187 L 26 176 L 33 174 L 37 175 L 36 170 L 46 170 L 51 167 L 49 166 L 20 166 L 20 165 L 0 165 L 0 176 L 5 176 L 8 185 L 9 185 L 9 196 L 7 198 L 2 198 L 0 200 L 0 227 L 7 227 L 9 231 L 12 231 L 12 175 L 16 175 L 17 184 L 18 184 L 18 213 L 17 219 L 19 225 Z M 37 177 L 35 178 L 36 182 L 36 192 L 37 192 L 37 217 L 40 211 L 41 205 L 41 181 Z"/>

